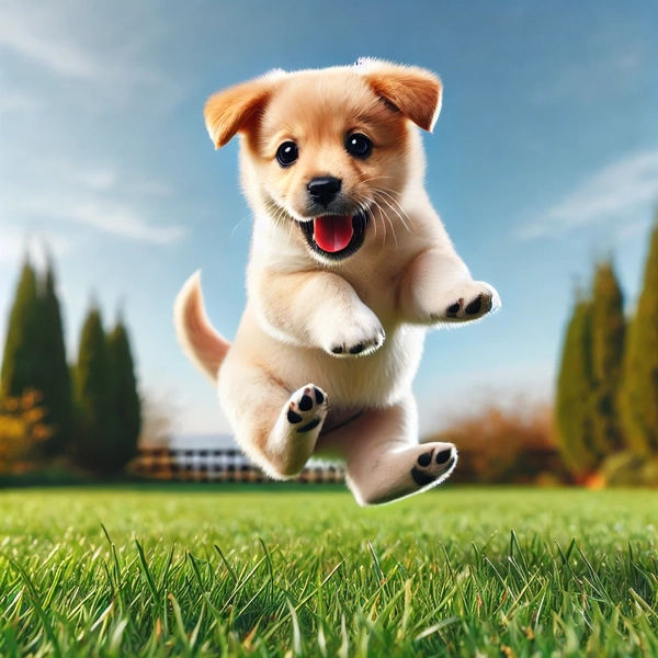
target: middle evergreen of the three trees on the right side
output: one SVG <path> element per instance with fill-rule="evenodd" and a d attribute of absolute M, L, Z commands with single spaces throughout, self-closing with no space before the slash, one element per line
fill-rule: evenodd
<path fill-rule="evenodd" d="M 624 447 L 619 392 L 624 354 L 624 298 L 612 261 L 597 265 L 592 296 L 593 432 L 601 457 Z"/>

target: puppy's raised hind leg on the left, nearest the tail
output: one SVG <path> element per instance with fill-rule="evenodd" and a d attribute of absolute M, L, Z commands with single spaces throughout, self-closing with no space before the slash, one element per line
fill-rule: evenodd
<path fill-rule="evenodd" d="M 229 363 L 222 368 L 219 398 L 238 443 L 268 475 L 294 477 L 315 451 L 327 417 L 327 394 L 313 384 L 291 394 L 259 368 L 236 374 L 230 376 Z"/>

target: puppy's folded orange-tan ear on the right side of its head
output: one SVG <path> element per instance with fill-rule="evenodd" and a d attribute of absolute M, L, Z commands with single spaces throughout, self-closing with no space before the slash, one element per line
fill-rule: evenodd
<path fill-rule="evenodd" d="M 417 66 L 361 59 L 362 72 L 377 95 L 393 103 L 423 131 L 432 132 L 441 111 L 442 86 L 438 76 Z"/>

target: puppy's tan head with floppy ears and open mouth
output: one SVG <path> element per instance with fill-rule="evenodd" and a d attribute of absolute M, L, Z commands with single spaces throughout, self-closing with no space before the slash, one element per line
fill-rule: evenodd
<path fill-rule="evenodd" d="M 238 132 L 249 201 L 324 263 L 356 253 L 377 215 L 399 200 L 420 155 L 411 124 L 431 131 L 441 82 L 430 71 L 365 59 L 352 67 L 275 70 L 213 95 L 216 148 Z M 384 218 L 382 218 L 384 222 Z"/>

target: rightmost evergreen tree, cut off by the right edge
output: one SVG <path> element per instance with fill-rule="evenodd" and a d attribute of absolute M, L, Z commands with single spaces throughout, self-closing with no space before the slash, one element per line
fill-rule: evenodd
<path fill-rule="evenodd" d="M 628 446 L 642 454 L 658 453 L 658 216 L 643 290 L 628 330 L 621 393 Z"/>

